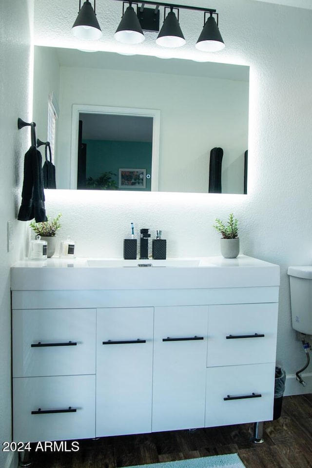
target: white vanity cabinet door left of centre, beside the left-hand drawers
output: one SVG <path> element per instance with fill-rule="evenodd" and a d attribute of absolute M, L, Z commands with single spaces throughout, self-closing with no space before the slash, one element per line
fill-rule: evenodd
<path fill-rule="evenodd" d="M 151 432 L 152 307 L 98 309 L 97 437 Z"/>

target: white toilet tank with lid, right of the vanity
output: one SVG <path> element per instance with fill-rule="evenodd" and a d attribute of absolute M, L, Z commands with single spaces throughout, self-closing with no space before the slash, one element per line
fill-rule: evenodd
<path fill-rule="evenodd" d="M 312 266 L 288 267 L 292 328 L 312 335 Z"/>

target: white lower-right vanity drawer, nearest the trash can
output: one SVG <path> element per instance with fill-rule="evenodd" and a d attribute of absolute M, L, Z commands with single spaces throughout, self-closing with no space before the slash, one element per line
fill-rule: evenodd
<path fill-rule="evenodd" d="M 207 369 L 205 427 L 273 418 L 275 363 Z"/>

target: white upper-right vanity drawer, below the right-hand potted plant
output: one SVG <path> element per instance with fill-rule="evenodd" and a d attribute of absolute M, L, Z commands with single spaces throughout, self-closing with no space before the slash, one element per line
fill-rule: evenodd
<path fill-rule="evenodd" d="M 277 303 L 209 307 L 207 367 L 275 361 Z"/>

